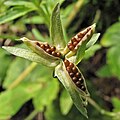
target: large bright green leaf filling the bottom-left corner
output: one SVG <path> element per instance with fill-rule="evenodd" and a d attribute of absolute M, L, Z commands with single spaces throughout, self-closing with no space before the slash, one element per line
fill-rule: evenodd
<path fill-rule="evenodd" d="M 24 84 L 0 93 L 0 120 L 7 120 L 15 115 L 40 87 L 39 84 Z"/>

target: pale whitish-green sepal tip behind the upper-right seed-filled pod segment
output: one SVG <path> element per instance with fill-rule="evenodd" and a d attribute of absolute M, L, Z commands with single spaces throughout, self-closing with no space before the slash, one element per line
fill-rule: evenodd
<path fill-rule="evenodd" d="M 93 34 L 93 36 L 91 37 L 91 39 L 87 43 L 86 48 L 88 49 L 89 47 L 94 45 L 96 43 L 96 41 L 98 40 L 99 36 L 100 36 L 100 33 Z"/>

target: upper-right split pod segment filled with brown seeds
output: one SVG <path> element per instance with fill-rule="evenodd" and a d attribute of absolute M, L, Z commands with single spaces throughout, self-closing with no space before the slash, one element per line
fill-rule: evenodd
<path fill-rule="evenodd" d="M 91 39 L 94 31 L 95 31 L 96 25 L 93 24 L 86 29 L 82 30 L 78 34 L 76 34 L 68 43 L 68 45 L 65 47 L 63 53 L 64 54 L 69 54 L 69 55 L 74 55 L 77 52 L 77 49 L 79 46 L 82 45 L 83 42 L 86 41 L 86 43 Z"/>

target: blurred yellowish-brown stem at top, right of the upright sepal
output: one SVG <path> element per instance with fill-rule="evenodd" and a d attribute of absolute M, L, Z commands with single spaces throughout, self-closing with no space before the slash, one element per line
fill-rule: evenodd
<path fill-rule="evenodd" d="M 65 28 L 67 28 L 70 23 L 72 22 L 72 20 L 75 18 L 75 16 L 77 15 L 77 13 L 79 12 L 80 8 L 82 7 L 82 5 L 84 4 L 85 0 L 78 0 L 75 5 L 74 5 L 74 10 L 70 13 L 70 15 L 68 16 L 67 22 L 65 24 Z"/>

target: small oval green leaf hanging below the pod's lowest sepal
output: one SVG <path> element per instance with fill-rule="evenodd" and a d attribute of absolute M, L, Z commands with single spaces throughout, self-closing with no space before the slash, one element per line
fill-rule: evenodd
<path fill-rule="evenodd" d="M 66 90 L 63 90 L 60 96 L 60 109 L 63 115 L 67 115 L 72 108 L 73 102 Z"/>

